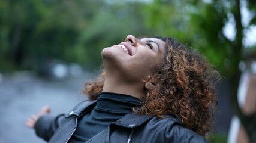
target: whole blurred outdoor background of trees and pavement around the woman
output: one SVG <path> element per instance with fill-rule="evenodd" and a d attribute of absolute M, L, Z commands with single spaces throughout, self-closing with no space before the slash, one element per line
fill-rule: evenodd
<path fill-rule="evenodd" d="M 44 142 L 25 120 L 68 113 L 127 35 L 170 36 L 222 75 L 210 142 L 256 142 L 256 1 L 0 0 L 0 142 Z"/>

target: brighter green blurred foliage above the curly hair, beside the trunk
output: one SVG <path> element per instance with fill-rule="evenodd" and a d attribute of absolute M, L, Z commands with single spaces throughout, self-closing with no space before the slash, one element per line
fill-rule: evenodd
<path fill-rule="evenodd" d="M 255 7 L 251 8 L 254 14 Z M 234 53 L 243 54 L 233 48 L 239 39 L 231 41 L 223 33 L 228 14 L 233 14 L 235 10 L 235 1 L 156 0 L 144 7 L 144 14 L 148 14 L 148 28 L 188 43 L 188 46 L 198 49 L 209 58 L 223 75 L 228 76 L 237 70 L 236 67 L 230 66 L 234 64 Z"/>

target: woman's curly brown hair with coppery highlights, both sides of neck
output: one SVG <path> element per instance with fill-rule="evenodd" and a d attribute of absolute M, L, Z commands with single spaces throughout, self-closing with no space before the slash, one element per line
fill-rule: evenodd
<path fill-rule="evenodd" d="M 216 83 L 220 76 L 202 55 L 186 48 L 172 38 L 165 41 L 165 58 L 158 71 L 144 82 L 151 82 L 135 114 L 163 117 L 177 114 L 186 128 L 205 136 L 212 129 L 216 107 Z M 85 83 L 84 93 L 89 100 L 97 100 L 103 89 L 104 71 L 94 82 Z"/>

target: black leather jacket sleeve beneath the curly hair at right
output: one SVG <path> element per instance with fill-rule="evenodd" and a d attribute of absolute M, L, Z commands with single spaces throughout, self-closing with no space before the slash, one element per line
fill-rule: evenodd
<path fill-rule="evenodd" d="M 206 143 L 206 139 L 181 125 L 172 125 L 165 130 L 165 142 Z"/>

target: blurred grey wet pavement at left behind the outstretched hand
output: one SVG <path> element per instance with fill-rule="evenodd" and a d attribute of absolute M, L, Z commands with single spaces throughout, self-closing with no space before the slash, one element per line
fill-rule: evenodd
<path fill-rule="evenodd" d="M 46 80 L 23 72 L 2 76 L 0 80 L 0 142 L 43 143 L 25 120 L 36 114 L 44 105 L 51 107 L 53 115 L 68 113 L 76 104 L 86 99 L 81 94 L 83 83 L 95 73 L 79 77 Z"/>

